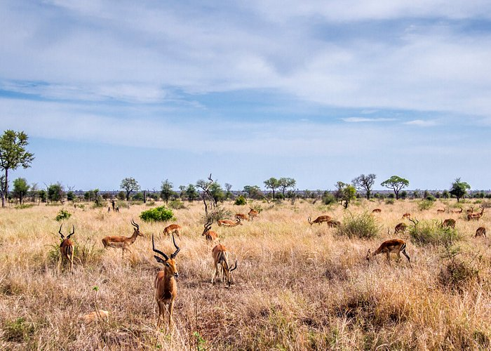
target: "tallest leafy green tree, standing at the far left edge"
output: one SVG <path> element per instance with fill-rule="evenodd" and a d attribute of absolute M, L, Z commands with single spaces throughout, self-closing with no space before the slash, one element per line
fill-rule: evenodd
<path fill-rule="evenodd" d="M 4 172 L 0 181 L 1 206 L 5 207 L 8 193 L 8 171 L 14 171 L 19 166 L 28 168 L 34 160 L 34 154 L 27 152 L 27 134 L 10 129 L 0 137 L 0 169 Z"/>

